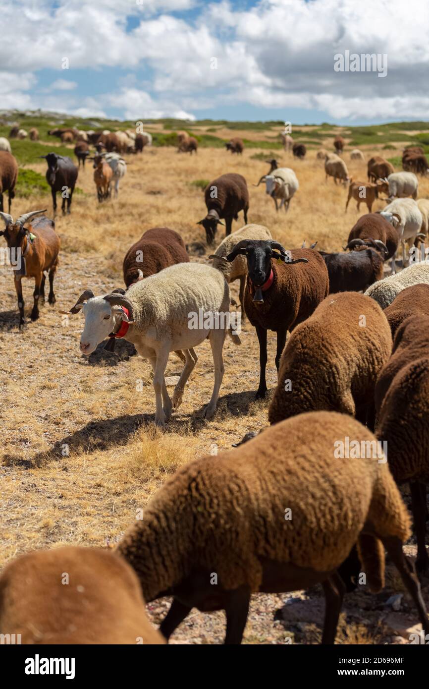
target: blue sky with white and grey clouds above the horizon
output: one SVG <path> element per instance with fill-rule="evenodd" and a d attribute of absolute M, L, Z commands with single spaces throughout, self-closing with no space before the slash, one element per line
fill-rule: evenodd
<path fill-rule="evenodd" d="M 428 120 L 428 25 L 424 0 L 0 0 L 0 110 Z M 379 71 L 346 71 L 347 54 Z"/>

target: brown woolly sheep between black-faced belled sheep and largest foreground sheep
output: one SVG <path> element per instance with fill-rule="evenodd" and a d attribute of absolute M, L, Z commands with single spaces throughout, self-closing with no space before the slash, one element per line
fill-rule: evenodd
<path fill-rule="evenodd" d="M 391 350 L 390 327 L 379 305 L 357 292 L 328 296 L 284 348 L 269 422 L 326 410 L 365 423 Z"/>

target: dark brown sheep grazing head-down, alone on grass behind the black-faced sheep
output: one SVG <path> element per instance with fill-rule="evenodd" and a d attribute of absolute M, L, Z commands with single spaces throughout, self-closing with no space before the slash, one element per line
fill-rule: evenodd
<path fill-rule="evenodd" d="M 222 174 L 207 185 L 204 196 L 207 216 L 198 220 L 197 225 L 204 227 L 207 244 L 213 244 L 218 224 L 224 224 L 220 218 L 225 219 L 226 236 L 231 234 L 232 220 L 238 220 L 240 211 L 244 213 L 244 223 L 247 225 L 249 190 L 242 175 L 235 172 Z"/>

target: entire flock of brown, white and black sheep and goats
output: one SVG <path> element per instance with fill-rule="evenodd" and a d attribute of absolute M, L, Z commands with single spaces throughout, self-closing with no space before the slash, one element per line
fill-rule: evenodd
<path fill-rule="evenodd" d="M 26 135 L 15 129 L 12 138 Z M 123 154 L 151 143 L 150 134 L 133 132 L 57 129 L 50 134 L 76 143 L 79 166 L 93 161 L 99 202 L 112 190 L 118 195 L 127 170 Z M 38 133 L 30 132 L 30 138 L 36 141 Z M 5 227 L 0 234 L 11 252 L 21 251 L 14 284 L 22 327 L 23 277 L 34 279 L 32 320 L 45 298 L 46 275 L 48 301 L 55 302 L 60 240 L 44 210 L 17 220 L 10 215 L 18 166 L 3 141 L 0 215 Z M 306 156 L 304 144 L 289 135 L 283 141 L 287 154 L 298 160 Z M 90 146 L 96 147 L 92 155 Z M 116 339 L 124 338 L 149 360 L 154 422 L 161 428 L 182 402 L 198 361 L 195 349 L 208 339 L 213 391 L 204 415 L 210 420 L 224 376 L 224 340 L 229 336 L 240 345 L 227 318 L 229 285 L 239 280 L 242 318 L 259 343 L 256 398 L 263 400 L 267 393 L 269 331 L 277 336 L 278 384 L 262 431 L 247 433 L 236 449 L 182 466 L 115 551 L 67 546 L 8 564 L 0 575 L 0 633 L 19 633 L 27 644 L 165 644 L 198 608 L 225 610 L 225 644 L 240 644 L 252 593 L 286 593 L 320 583 L 326 599 L 322 643 L 333 644 L 344 594 L 355 588 L 361 570 L 370 590 L 381 590 L 387 551 L 429 634 L 420 586 L 429 572 L 429 265 L 413 260 L 428 238 L 429 200 L 418 198 L 417 177 L 428 174 L 428 164 L 423 150 L 412 147 L 404 151 L 402 172 L 374 156 L 368 180 L 353 181 L 341 157 L 346 142 L 338 136 L 333 147 L 335 152 L 317 153 L 324 164 L 321 183 L 333 178 L 348 185 L 346 211 L 352 198 L 357 209 L 361 202 L 368 208 L 344 233 L 342 252 L 323 251 L 317 243 L 306 248 L 310 238 L 305 237 L 301 247 L 288 249 L 269 228 L 248 224 L 246 179 L 222 174 L 207 185 L 207 214 L 198 222 L 209 247 L 218 243 L 218 225 L 225 227 L 209 263 L 191 262 L 180 234 L 154 227 L 125 254 L 125 289 L 96 296 L 85 285 L 70 310 L 61 311 L 83 313 L 83 354 L 89 356 L 102 342 L 113 351 Z M 243 148 L 239 138 L 226 144 L 231 154 L 240 155 Z M 178 152 L 197 150 L 196 138 L 178 132 Z M 54 212 L 56 193 L 65 188 L 62 211 L 67 205 L 70 213 L 79 169 L 54 152 L 42 157 Z M 353 150 L 350 158 L 364 156 Z M 299 170 L 279 167 L 275 159 L 267 164 L 269 171 L 255 186 L 264 182 L 275 209 L 284 205 L 287 212 L 300 188 Z M 372 212 L 375 199 L 386 201 L 386 207 Z M 240 212 L 245 225 L 232 232 Z M 191 313 L 204 315 L 195 327 L 189 325 Z M 171 399 L 165 369 L 172 351 L 183 370 Z M 404 483 L 410 486 L 412 518 L 399 491 Z M 415 563 L 403 548 L 412 528 Z M 62 571 L 79 584 L 61 588 Z M 146 617 L 145 601 L 167 595 L 171 607 L 156 630 Z"/>

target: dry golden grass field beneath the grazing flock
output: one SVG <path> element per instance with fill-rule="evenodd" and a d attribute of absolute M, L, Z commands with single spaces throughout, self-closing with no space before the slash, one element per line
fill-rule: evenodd
<path fill-rule="evenodd" d="M 225 138 L 240 135 L 223 127 L 216 134 Z M 262 138 L 260 133 L 258 138 Z M 401 149 L 398 143 L 389 157 L 400 154 Z M 350 174 L 366 181 L 366 164 L 350 161 L 349 150 L 343 157 Z M 380 152 L 375 147 L 362 150 L 367 159 Z M 149 362 L 135 356 L 134 348 L 123 341 L 116 347 L 118 356 L 96 351 L 86 358 L 79 351 L 83 317 L 67 319 L 59 313 L 59 309 L 74 305 L 84 289 L 106 294 L 114 287 L 123 287 L 125 251 L 149 227 L 171 227 L 185 242 L 205 244 L 204 231 L 196 225 L 205 215 L 204 197 L 191 183 L 209 181 L 225 172 L 244 175 L 250 192 L 249 222 L 269 227 L 284 247 L 298 247 L 305 239 L 307 247 L 317 240 L 319 249 L 340 250 L 358 214 L 354 203 L 344 214 L 346 190 L 332 180 L 325 182 L 323 163 L 316 160 L 315 149 L 309 150 L 302 162 L 278 152 L 280 165 L 293 167 L 300 181 L 288 214 L 275 212 L 264 185 L 252 185 L 269 167 L 251 159 L 257 152 L 253 148 L 244 150 L 242 156 L 231 156 L 224 149 L 200 148 L 197 155 L 189 156 L 177 154 L 172 147 L 153 147 L 143 155 L 127 157 L 129 167 L 119 198 L 103 204 L 96 200 L 93 171 L 87 164 L 78 179 L 85 194 L 75 194 L 70 216 L 56 217 L 62 245 L 54 282 L 56 305 L 46 303 L 40 319 L 28 320 L 23 332 L 18 328 L 11 271 L 0 267 L 0 567 L 33 548 L 114 544 L 134 521 L 138 508 L 178 466 L 210 453 L 213 444 L 218 452 L 230 449 L 246 431 L 266 425 L 269 399 L 254 402 L 259 350 L 255 331 L 248 323 L 243 326 L 240 347 L 229 338 L 225 342 L 225 373 L 216 417 L 210 422 L 202 418 L 213 385 L 206 341 L 197 349 L 198 364 L 182 406 L 161 432 L 152 423 L 154 392 Z M 44 161 L 30 167 L 45 172 Z M 428 180 L 421 182 L 419 196 L 429 197 Z M 383 206 L 379 200 L 373 210 Z M 52 214 L 50 196 L 16 198 L 12 214 L 17 217 L 41 208 Z M 364 205 L 361 212 L 366 212 Z M 233 229 L 243 224 L 240 214 Z M 222 227 L 218 240 L 223 236 Z M 207 259 L 196 255 L 191 260 Z M 33 285 L 25 280 L 23 285 L 29 318 Z M 238 298 L 238 285 L 232 286 L 232 294 Z M 276 380 L 274 356 L 275 335 L 271 333 L 267 367 L 271 389 Z M 180 361 L 173 353 L 166 375 L 179 372 Z M 143 391 L 137 390 L 140 380 Z M 409 548 L 412 553 L 413 546 Z M 384 601 L 393 590 L 401 590 L 396 579 L 392 583 L 394 589 L 387 587 L 378 596 L 359 590 L 346 597 L 337 642 L 392 642 L 394 632 L 386 621 Z M 286 630 L 280 621 L 273 621 L 274 610 L 282 606 L 285 597 L 254 596 L 244 643 L 283 644 L 287 636 L 304 644 L 319 641 L 322 589 L 313 590 L 311 595 L 311 601 L 304 593 L 289 596 L 295 601 L 290 606 L 295 617 L 289 617 Z M 423 595 L 428 601 L 427 586 Z M 165 600 L 149 606 L 155 622 L 166 609 Z M 407 609 L 406 604 L 403 609 Z M 410 624 L 413 621 L 416 619 L 411 615 Z M 171 643 L 217 644 L 222 643 L 223 634 L 223 613 L 202 615 L 194 611 Z"/>

